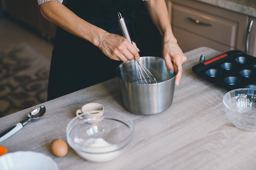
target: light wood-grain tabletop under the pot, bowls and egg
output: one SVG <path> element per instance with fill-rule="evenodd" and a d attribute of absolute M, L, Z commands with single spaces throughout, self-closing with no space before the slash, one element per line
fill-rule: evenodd
<path fill-rule="evenodd" d="M 185 53 L 182 81 L 175 87 L 173 104 L 163 113 L 136 115 L 124 108 L 117 78 L 44 102 L 45 116 L 29 122 L 0 145 L 9 153 L 35 151 L 48 155 L 60 170 L 241 170 L 254 169 L 256 133 L 237 129 L 229 122 L 222 97 L 227 89 L 214 85 L 191 68 L 220 52 L 201 47 Z M 89 102 L 104 105 L 129 116 L 135 124 L 134 138 L 123 155 L 109 162 L 92 163 L 79 157 L 69 146 L 65 157 L 55 157 L 50 143 L 66 141 L 66 126 L 76 109 Z M 40 105 L 0 118 L 0 132 L 26 118 Z M 29 163 L 28 163 L 29 164 Z"/>

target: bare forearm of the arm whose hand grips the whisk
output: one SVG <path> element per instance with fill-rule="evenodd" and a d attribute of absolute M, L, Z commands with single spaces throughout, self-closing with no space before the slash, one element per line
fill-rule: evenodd
<path fill-rule="evenodd" d="M 50 22 L 69 33 L 90 41 L 95 46 L 99 46 L 99 42 L 106 32 L 81 19 L 58 1 L 43 3 L 40 5 L 40 10 L 43 17 Z"/>

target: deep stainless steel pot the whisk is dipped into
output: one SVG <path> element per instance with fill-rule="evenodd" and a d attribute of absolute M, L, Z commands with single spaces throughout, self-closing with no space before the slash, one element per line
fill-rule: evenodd
<path fill-rule="evenodd" d="M 117 77 L 126 109 L 133 113 L 150 115 L 161 113 L 173 102 L 175 77 L 178 68 L 174 65 L 171 74 L 161 57 L 140 57 L 141 63 L 157 79 L 155 84 L 136 84 L 135 63 L 128 61 L 117 67 Z"/>

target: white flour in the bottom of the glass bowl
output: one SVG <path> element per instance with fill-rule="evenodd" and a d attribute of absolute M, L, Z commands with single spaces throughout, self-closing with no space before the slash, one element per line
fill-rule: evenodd
<path fill-rule="evenodd" d="M 74 142 L 86 147 L 90 147 L 86 150 L 88 153 L 76 151 L 76 153 L 79 156 L 83 157 L 84 159 L 87 159 L 88 161 L 93 161 L 93 162 L 110 161 L 118 157 L 120 154 L 120 151 L 117 150 L 116 145 L 112 145 L 106 142 L 103 138 L 90 138 L 87 140 L 74 138 Z M 82 148 L 79 148 L 79 149 L 82 150 Z"/>

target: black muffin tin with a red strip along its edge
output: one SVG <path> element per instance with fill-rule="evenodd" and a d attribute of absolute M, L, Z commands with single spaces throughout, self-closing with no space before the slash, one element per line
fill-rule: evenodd
<path fill-rule="evenodd" d="M 194 65 L 195 74 L 229 90 L 256 85 L 256 57 L 231 50 Z"/>

